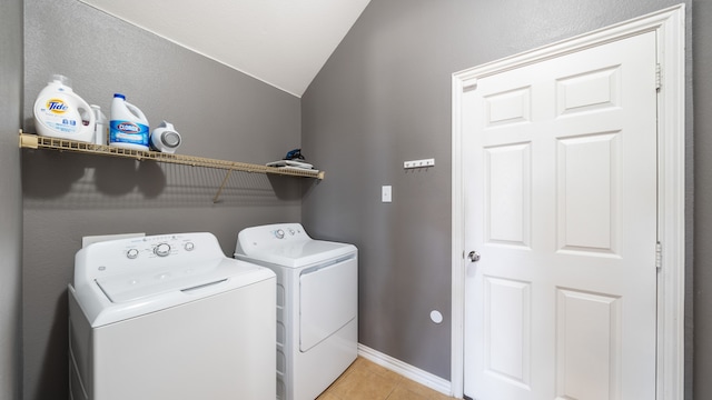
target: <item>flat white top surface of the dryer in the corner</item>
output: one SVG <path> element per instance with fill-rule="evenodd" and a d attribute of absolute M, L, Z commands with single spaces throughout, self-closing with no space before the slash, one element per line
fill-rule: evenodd
<path fill-rule="evenodd" d="M 240 259 L 269 262 L 289 268 L 301 268 L 326 260 L 344 257 L 356 251 L 354 244 L 324 240 L 306 240 L 276 246 L 265 251 L 236 254 Z"/>

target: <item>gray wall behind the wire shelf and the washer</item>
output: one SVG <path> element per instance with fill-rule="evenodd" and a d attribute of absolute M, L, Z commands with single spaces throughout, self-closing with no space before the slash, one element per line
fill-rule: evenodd
<path fill-rule="evenodd" d="M 180 153 L 265 163 L 300 144 L 298 98 L 76 0 L 24 2 L 24 57 L 29 132 L 37 94 L 62 73 L 107 114 L 121 92 L 152 128 L 172 122 Z M 17 131 L 8 134 L 17 152 Z M 231 256 L 241 228 L 300 220 L 295 178 L 236 172 L 214 204 L 222 171 L 48 150 L 23 150 L 21 162 L 24 399 L 67 396 L 67 284 L 82 236 L 210 231 Z M 4 193 L 3 183 L 3 207 Z"/>

